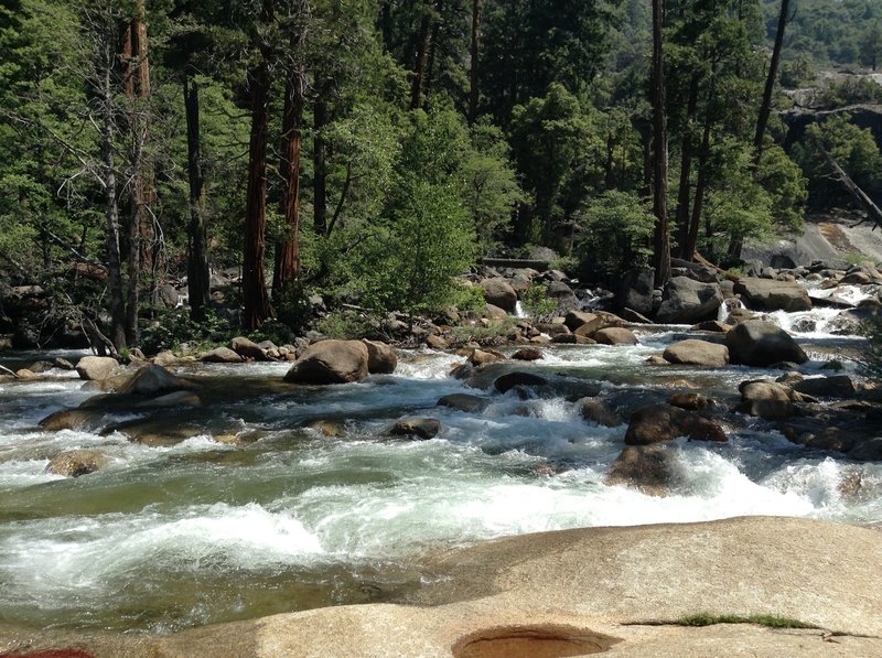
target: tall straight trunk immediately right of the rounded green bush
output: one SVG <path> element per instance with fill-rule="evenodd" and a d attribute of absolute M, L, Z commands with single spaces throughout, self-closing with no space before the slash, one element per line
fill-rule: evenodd
<path fill-rule="evenodd" d="M 664 0 L 653 0 L 653 213 L 656 217 L 653 252 L 656 285 L 664 285 L 670 279 L 670 236 L 667 209 L 668 145 L 665 116 L 665 66 L 662 53 L 664 13 Z"/>

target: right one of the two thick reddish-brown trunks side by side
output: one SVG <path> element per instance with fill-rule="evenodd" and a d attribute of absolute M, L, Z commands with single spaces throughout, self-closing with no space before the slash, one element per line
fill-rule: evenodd
<path fill-rule="evenodd" d="M 272 293 L 279 294 L 289 283 L 300 278 L 300 147 L 303 125 L 303 100 L 306 93 L 306 71 L 300 51 L 306 37 L 303 15 L 290 37 L 291 54 L 284 89 L 284 115 L 282 117 L 282 149 L 279 170 L 284 182 L 281 211 L 286 223 L 286 236 L 276 248 L 276 268 Z"/>

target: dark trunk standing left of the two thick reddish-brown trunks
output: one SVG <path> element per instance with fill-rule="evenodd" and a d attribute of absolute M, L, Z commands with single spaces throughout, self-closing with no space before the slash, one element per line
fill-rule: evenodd
<path fill-rule="evenodd" d="M 209 301 L 208 239 L 205 227 L 205 179 L 202 173 L 200 139 L 200 88 L 190 76 L 184 77 L 186 111 L 187 174 L 190 179 L 190 229 L 187 231 L 187 276 L 190 316 L 205 320 Z"/>

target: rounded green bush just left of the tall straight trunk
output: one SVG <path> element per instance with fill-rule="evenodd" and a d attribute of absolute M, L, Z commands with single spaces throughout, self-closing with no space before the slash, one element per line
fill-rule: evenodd
<path fill-rule="evenodd" d="M 605 192 L 580 213 L 576 252 L 590 269 L 607 274 L 645 267 L 654 226 L 655 216 L 636 195 Z"/>

